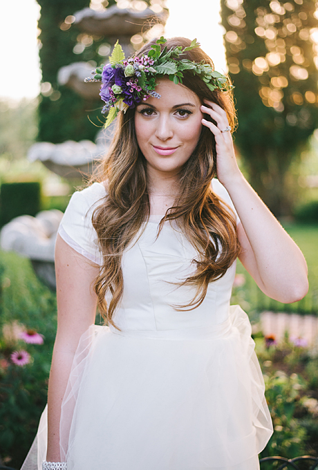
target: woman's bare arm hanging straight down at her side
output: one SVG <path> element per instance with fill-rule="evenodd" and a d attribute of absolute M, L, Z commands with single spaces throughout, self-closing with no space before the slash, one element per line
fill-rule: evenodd
<path fill-rule="evenodd" d="M 57 235 L 57 335 L 48 382 L 48 462 L 59 462 L 61 405 L 79 338 L 95 323 L 97 295 L 92 283 L 99 272 Z"/>

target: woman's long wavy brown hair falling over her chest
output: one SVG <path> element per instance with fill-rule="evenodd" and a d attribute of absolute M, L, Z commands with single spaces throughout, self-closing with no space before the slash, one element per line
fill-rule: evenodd
<path fill-rule="evenodd" d="M 151 44 L 155 42 L 156 39 L 147 43 L 136 56 L 147 54 Z M 168 48 L 185 48 L 190 43 L 189 39 L 175 37 L 168 39 L 165 45 Z M 194 62 L 203 60 L 213 65 L 209 56 L 200 48 L 188 51 L 182 58 Z M 194 91 L 200 102 L 207 98 L 221 106 L 234 129 L 236 112 L 232 91 L 210 91 L 200 77 L 187 72 L 184 75 L 183 86 Z M 112 317 L 124 289 L 122 254 L 140 234 L 140 229 L 144 227 L 150 214 L 146 160 L 136 140 L 134 114 L 135 109 L 128 109 L 118 116 L 115 135 L 98 178 L 100 182 L 106 182 L 106 196 L 92 217 L 104 255 L 104 263 L 94 288 L 104 320 L 118 330 L 120 328 L 115 326 Z M 180 170 L 180 191 L 174 207 L 167 210 L 159 225 L 160 232 L 165 220 L 176 220 L 198 252 L 197 259 L 194 260 L 196 271 L 181 284 L 195 285 L 196 293 L 186 306 L 174 306 L 176 310 L 193 310 L 198 307 L 205 298 L 209 283 L 225 274 L 239 252 L 236 220 L 233 212 L 229 212 L 229 207 L 212 191 L 211 180 L 214 176 L 215 139 L 213 133 L 202 126 L 196 149 Z M 107 305 L 105 295 L 109 291 L 112 298 Z"/>

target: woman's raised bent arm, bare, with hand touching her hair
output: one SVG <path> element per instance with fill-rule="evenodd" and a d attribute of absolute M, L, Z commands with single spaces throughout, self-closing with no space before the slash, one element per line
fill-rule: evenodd
<path fill-rule="evenodd" d="M 216 140 L 218 180 L 230 194 L 241 219 L 239 259 L 266 295 L 283 303 L 296 302 L 308 292 L 305 258 L 238 169 L 232 135 L 221 132 L 228 126 L 225 111 L 211 101 L 205 103 L 201 111 L 218 124 L 202 121 Z"/>

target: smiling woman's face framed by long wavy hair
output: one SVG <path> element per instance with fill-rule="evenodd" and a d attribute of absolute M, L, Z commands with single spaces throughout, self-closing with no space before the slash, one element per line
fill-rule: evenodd
<path fill-rule="evenodd" d="M 174 176 L 187 162 L 198 143 L 201 131 L 200 100 L 196 93 L 169 78 L 160 79 L 156 92 L 138 104 L 135 111 L 135 133 L 154 176 Z"/>

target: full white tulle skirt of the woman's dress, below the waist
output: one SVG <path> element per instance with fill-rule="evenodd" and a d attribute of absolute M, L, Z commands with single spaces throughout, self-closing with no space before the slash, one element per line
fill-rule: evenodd
<path fill-rule="evenodd" d="M 272 435 L 250 321 L 82 336 L 62 404 L 68 470 L 257 470 Z M 21 470 L 46 458 L 46 410 Z"/>

